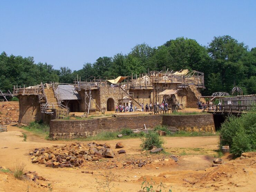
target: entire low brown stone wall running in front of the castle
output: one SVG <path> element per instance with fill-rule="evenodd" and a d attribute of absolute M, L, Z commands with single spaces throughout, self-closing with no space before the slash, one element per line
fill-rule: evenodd
<path fill-rule="evenodd" d="M 51 120 L 51 138 L 79 138 L 102 131 L 120 131 L 122 128 L 153 128 L 168 125 L 184 131 L 215 132 L 212 114 L 203 115 L 143 115 L 138 117 L 110 117 L 88 120 Z"/>

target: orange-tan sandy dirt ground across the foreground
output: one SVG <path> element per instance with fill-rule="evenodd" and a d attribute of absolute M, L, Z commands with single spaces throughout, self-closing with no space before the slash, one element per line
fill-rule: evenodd
<path fill-rule="evenodd" d="M 27 142 L 23 141 L 22 133 L 27 134 Z M 167 154 L 141 154 L 139 138 L 110 140 L 107 142 L 115 152 L 114 159 L 87 162 L 82 168 L 54 169 L 32 164 L 29 152 L 71 141 L 47 141 L 15 125 L 8 125 L 8 132 L 0 133 L 0 166 L 12 170 L 17 163 L 24 163 L 26 171 L 36 171 L 43 176 L 45 182 L 53 186 L 53 191 L 108 191 L 107 186 L 113 185 L 111 191 L 139 191 L 143 178 L 152 179 L 154 189 L 162 182 L 165 185 L 163 191 L 256 191 L 256 157 L 230 160 L 224 156 L 224 164 L 210 166 L 217 154 L 218 139 L 218 136 L 164 137 L 166 151 L 178 155 L 178 162 Z M 118 149 L 114 148 L 117 141 L 124 144 L 126 154 L 117 154 Z M 151 160 L 152 163 L 140 168 L 123 166 L 128 160 Z M 93 174 L 82 171 L 93 171 Z M 106 177 L 106 174 L 111 176 Z M 0 172 L 0 191 L 25 191 L 28 186 L 29 191 L 48 190 L 32 181 L 20 181 L 11 174 Z"/>

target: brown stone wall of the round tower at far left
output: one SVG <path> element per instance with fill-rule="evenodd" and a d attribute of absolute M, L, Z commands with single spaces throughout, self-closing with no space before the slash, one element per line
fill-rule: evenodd
<path fill-rule="evenodd" d="M 40 103 L 36 95 L 19 95 L 19 123 L 40 121 Z"/>

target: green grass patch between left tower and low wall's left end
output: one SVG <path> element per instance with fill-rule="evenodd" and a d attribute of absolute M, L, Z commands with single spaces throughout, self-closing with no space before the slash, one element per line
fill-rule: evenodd
<path fill-rule="evenodd" d="M 43 136 L 46 139 L 49 138 L 50 127 L 46 124 L 31 122 L 29 124 L 29 126 L 25 126 L 25 127 L 21 127 L 21 128 L 25 129 L 26 131 L 32 132 L 38 136 Z M 24 135 L 24 141 L 25 141 L 26 134 L 23 134 L 23 135 Z M 27 138 L 27 135 L 26 135 L 26 138 Z"/>

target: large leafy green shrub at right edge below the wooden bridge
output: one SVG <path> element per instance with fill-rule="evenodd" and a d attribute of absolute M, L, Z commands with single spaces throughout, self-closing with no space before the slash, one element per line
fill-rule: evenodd
<path fill-rule="evenodd" d="M 239 156 L 256 149 L 256 110 L 253 107 L 241 117 L 229 116 L 221 125 L 220 146 L 229 145 L 230 152 Z"/>

